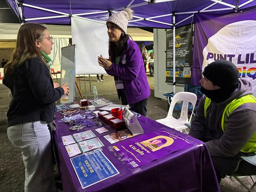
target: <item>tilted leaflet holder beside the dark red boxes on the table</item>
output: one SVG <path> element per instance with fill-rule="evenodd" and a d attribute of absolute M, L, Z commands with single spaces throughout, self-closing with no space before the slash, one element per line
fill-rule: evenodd
<path fill-rule="evenodd" d="M 144 131 L 137 117 L 127 108 L 123 109 L 122 118 L 127 128 L 133 135 L 143 134 Z"/>

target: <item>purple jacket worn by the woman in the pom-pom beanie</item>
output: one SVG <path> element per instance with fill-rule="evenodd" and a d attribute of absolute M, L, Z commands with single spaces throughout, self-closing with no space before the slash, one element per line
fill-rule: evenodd
<path fill-rule="evenodd" d="M 150 96 L 143 59 L 136 42 L 128 39 L 120 56 L 118 65 L 112 60 L 110 70 L 106 70 L 111 76 L 119 77 L 123 81 L 125 95 L 129 104 L 134 104 Z"/>

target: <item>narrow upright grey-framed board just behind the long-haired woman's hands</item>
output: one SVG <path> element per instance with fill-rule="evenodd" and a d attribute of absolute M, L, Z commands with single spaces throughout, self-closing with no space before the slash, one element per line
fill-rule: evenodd
<path fill-rule="evenodd" d="M 60 99 L 61 103 L 74 102 L 75 100 L 75 63 L 76 63 L 76 45 L 61 48 L 61 85 L 68 82 L 69 98 Z"/>

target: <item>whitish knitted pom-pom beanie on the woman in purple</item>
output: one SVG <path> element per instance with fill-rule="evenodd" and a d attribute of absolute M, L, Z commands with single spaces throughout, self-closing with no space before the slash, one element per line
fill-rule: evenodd
<path fill-rule="evenodd" d="M 124 11 L 118 11 L 116 13 L 113 13 L 108 20 L 106 20 L 106 23 L 113 23 L 116 24 L 118 27 L 120 27 L 124 33 L 127 32 L 127 25 L 128 21 L 133 19 L 133 10 L 130 8 L 124 9 Z"/>

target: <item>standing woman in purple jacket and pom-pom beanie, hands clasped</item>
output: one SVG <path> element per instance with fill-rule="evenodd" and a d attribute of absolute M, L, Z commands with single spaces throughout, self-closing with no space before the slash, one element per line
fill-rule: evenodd
<path fill-rule="evenodd" d="M 141 52 L 133 40 L 126 34 L 128 20 L 133 18 L 133 11 L 126 8 L 112 14 L 106 21 L 109 35 L 109 59 L 100 55 L 99 66 L 114 76 L 116 88 L 122 103 L 127 99 L 131 110 L 146 115 L 147 98 L 150 87 L 144 72 Z M 120 90 L 120 91 L 119 91 Z"/>

